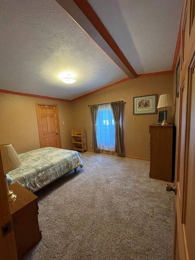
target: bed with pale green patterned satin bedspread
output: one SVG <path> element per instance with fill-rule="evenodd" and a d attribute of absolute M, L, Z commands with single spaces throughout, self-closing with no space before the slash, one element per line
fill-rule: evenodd
<path fill-rule="evenodd" d="M 77 151 L 45 147 L 19 154 L 22 165 L 7 174 L 8 184 L 18 182 L 31 192 L 80 166 L 81 155 Z"/>

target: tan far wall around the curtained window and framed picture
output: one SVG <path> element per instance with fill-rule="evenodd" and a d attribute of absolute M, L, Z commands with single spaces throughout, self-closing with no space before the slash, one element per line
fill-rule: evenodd
<path fill-rule="evenodd" d="M 158 114 L 155 115 L 133 115 L 133 97 L 150 94 L 170 93 L 173 96 L 173 75 L 155 77 L 142 77 L 128 80 L 96 92 L 87 97 L 73 102 L 73 127 L 74 129 L 85 129 L 87 131 L 87 149 L 91 150 L 92 124 L 90 118 L 89 104 L 125 100 L 123 104 L 123 155 L 140 158 L 150 158 L 149 148 L 149 125 L 158 122 Z M 163 109 L 158 109 L 163 110 Z M 169 122 L 173 122 L 172 108 L 167 108 Z"/>

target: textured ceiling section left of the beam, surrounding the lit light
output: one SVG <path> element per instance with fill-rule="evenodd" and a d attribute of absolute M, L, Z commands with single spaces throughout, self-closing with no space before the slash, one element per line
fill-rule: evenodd
<path fill-rule="evenodd" d="M 53 0 L 5 1 L 0 35 L 2 89 L 73 99 L 127 77 Z"/>

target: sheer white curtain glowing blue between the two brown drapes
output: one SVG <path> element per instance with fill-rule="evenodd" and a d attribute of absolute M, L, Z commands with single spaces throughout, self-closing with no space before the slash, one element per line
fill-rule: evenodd
<path fill-rule="evenodd" d="M 115 121 L 110 103 L 98 105 L 96 126 L 98 148 L 115 151 Z"/>

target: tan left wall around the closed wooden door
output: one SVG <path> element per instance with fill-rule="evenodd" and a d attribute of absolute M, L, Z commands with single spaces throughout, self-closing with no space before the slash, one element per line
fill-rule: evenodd
<path fill-rule="evenodd" d="M 72 103 L 4 93 L 0 93 L 0 144 L 11 143 L 18 154 L 40 148 L 36 102 L 58 105 L 62 148 L 71 149 Z"/>

